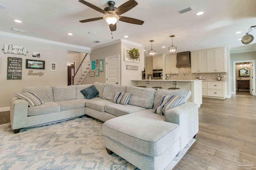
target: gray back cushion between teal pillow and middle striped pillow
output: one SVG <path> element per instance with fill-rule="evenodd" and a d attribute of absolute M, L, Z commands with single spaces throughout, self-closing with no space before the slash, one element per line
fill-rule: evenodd
<path fill-rule="evenodd" d="M 111 100 L 116 91 L 125 93 L 126 88 L 127 88 L 127 86 L 115 86 L 113 84 L 106 84 L 106 86 L 104 87 L 102 98 Z"/>

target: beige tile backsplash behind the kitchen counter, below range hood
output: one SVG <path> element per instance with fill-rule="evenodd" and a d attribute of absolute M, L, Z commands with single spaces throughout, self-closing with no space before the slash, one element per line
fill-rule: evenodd
<path fill-rule="evenodd" d="M 217 80 L 218 74 L 220 74 L 220 76 L 223 77 L 223 80 L 226 80 L 226 78 L 224 78 L 224 76 L 227 74 L 226 72 L 191 73 L 191 67 L 184 67 L 184 68 L 179 68 L 179 74 L 170 74 L 170 80 L 194 80 L 194 78 L 197 78 L 199 76 L 204 77 L 205 80 Z M 166 78 L 166 75 L 165 75 L 165 78 Z"/>

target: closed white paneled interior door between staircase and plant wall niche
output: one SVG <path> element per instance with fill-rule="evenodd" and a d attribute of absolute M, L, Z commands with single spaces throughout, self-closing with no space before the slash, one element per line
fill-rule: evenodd
<path fill-rule="evenodd" d="M 106 83 L 120 85 L 119 55 L 106 57 Z"/>

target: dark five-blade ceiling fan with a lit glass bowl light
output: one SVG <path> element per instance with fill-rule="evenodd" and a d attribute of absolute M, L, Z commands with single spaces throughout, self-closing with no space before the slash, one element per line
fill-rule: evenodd
<path fill-rule="evenodd" d="M 79 2 L 81 2 L 82 4 L 92 8 L 98 12 L 101 12 L 102 14 L 105 14 L 105 16 L 103 16 L 103 17 L 81 20 L 80 22 L 82 22 L 82 23 L 104 19 L 109 24 L 109 28 L 111 31 L 116 31 L 116 22 L 118 20 L 127 22 L 127 23 L 137 24 L 137 25 L 142 25 L 144 23 L 144 21 L 141 21 L 141 20 L 120 16 L 121 14 L 124 14 L 125 12 L 131 10 L 136 5 L 138 5 L 138 3 L 135 0 L 129 0 L 129 1 L 125 2 L 124 4 L 122 4 L 121 6 L 119 6 L 118 8 L 114 7 L 114 5 L 116 4 L 114 1 L 108 1 L 109 6 L 104 8 L 104 10 L 102 10 L 101 8 L 99 8 L 93 4 L 90 4 L 89 2 L 86 2 L 84 0 L 79 0 Z"/>

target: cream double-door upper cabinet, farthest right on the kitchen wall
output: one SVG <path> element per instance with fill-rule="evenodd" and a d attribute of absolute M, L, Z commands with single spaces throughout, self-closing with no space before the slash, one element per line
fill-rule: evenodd
<path fill-rule="evenodd" d="M 207 72 L 226 72 L 224 48 L 207 50 Z"/>

